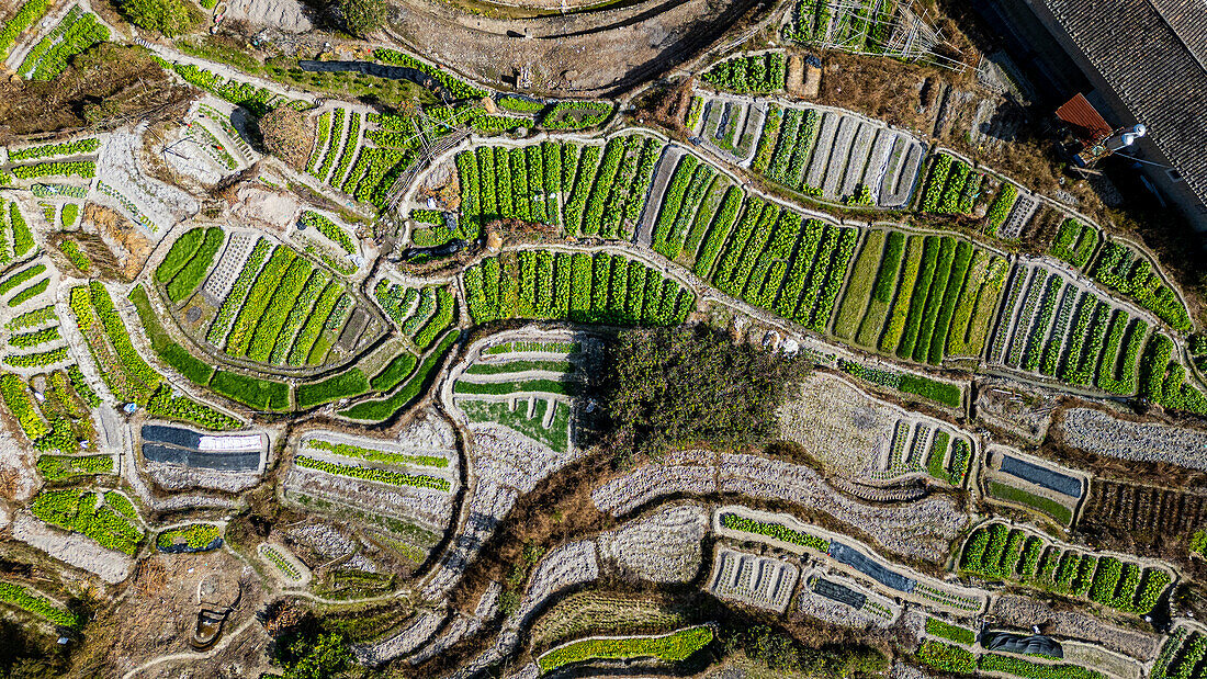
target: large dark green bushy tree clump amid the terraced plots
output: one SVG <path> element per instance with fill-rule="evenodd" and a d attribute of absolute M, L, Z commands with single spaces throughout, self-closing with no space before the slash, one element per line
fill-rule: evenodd
<path fill-rule="evenodd" d="M 624 449 L 758 444 L 804 369 L 706 327 L 628 330 L 605 358 L 605 411 Z"/>

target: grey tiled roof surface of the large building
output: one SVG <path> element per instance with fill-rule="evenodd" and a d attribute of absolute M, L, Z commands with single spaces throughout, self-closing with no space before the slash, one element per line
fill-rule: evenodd
<path fill-rule="evenodd" d="M 1207 0 L 1042 0 L 1207 204 Z"/>

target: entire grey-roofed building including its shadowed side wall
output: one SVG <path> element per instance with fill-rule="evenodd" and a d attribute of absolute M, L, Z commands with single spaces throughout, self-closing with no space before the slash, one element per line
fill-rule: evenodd
<path fill-rule="evenodd" d="M 1145 176 L 1207 232 L 1207 2 L 1024 0 L 1119 125 L 1144 123 Z M 1160 166 L 1159 166 L 1160 165 Z"/>

